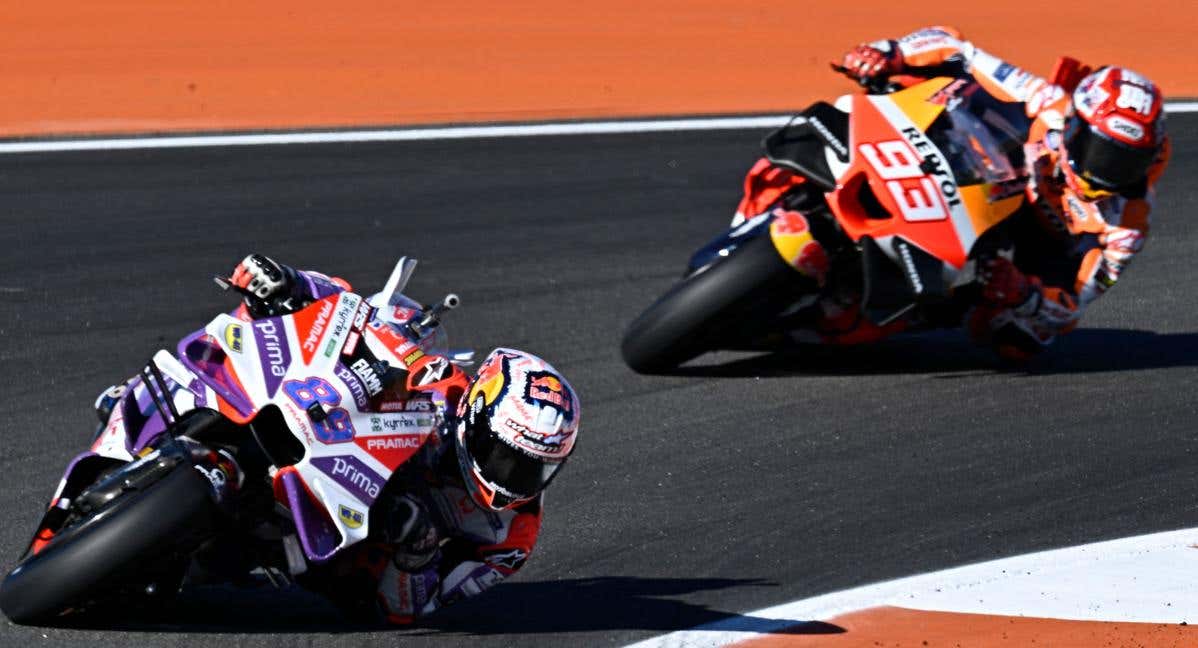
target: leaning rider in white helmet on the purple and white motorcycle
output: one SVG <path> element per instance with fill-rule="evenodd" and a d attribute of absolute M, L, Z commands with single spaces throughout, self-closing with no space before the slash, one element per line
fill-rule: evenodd
<path fill-rule="evenodd" d="M 295 313 L 350 289 L 259 254 L 226 283 L 246 296 L 234 311 L 246 321 Z M 404 345 L 404 322 L 392 310 L 374 309 L 368 326 L 389 345 Z M 389 358 L 389 369 L 374 364 L 383 389 L 368 407 L 423 405 L 444 423 L 388 479 L 371 510 L 370 537 L 300 577 L 355 617 L 394 624 L 479 594 L 524 565 L 540 532 L 543 490 L 573 450 L 579 422 L 569 383 L 536 356 L 497 349 L 473 377 L 441 356 L 416 356 Z M 110 407 L 113 394 L 102 394 L 97 408 Z"/>

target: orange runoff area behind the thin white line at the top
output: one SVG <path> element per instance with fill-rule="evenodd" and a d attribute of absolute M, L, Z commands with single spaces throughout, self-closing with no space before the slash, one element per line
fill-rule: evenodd
<path fill-rule="evenodd" d="M 1084 8 L 1082 8 L 1084 7 Z M 1186 0 L 8 2 L 0 137 L 773 113 L 853 90 L 858 42 L 951 24 L 1047 73 L 1198 96 Z"/>

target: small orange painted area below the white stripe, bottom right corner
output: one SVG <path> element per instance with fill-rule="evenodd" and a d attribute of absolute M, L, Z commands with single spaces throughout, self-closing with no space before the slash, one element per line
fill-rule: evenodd
<path fill-rule="evenodd" d="M 1114 623 L 922 612 L 875 607 L 823 624 L 737 643 L 737 648 L 1094 648 L 1096 646 L 1198 646 L 1198 628 L 1158 623 Z"/>

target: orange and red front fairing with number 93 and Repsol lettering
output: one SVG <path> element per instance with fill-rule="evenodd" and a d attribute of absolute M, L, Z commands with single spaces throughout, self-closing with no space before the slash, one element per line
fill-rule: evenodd
<path fill-rule="evenodd" d="M 974 242 L 1018 206 L 1008 149 L 968 110 L 968 95 L 979 91 L 942 78 L 852 98 L 852 157 L 827 194 L 849 238 L 879 241 L 898 262 L 885 243 L 902 237 L 951 277 Z"/>

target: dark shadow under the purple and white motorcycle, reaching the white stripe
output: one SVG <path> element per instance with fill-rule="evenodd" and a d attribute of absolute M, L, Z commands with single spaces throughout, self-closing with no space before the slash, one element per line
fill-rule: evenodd
<path fill-rule="evenodd" d="M 787 635 L 840 634 L 840 626 L 801 619 L 767 619 L 721 612 L 674 596 L 732 587 L 770 587 L 743 579 L 639 579 L 607 576 L 504 583 L 446 607 L 411 628 L 355 623 L 323 598 L 284 591 L 200 587 L 184 591 L 158 614 L 134 611 L 67 617 L 62 628 L 123 632 L 502 635 L 649 630 L 666 632 L 719 623 L 725 630 Z"/>

